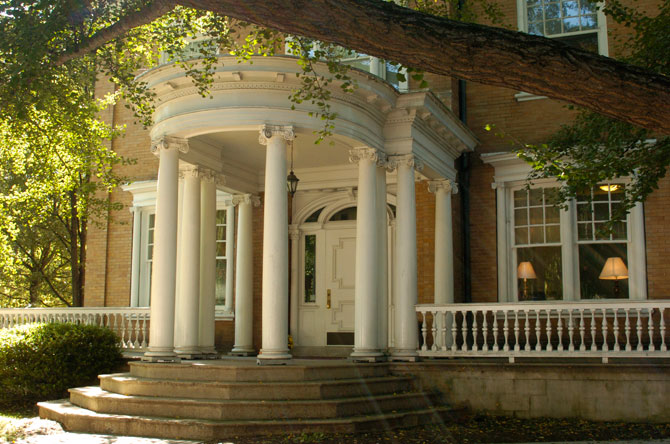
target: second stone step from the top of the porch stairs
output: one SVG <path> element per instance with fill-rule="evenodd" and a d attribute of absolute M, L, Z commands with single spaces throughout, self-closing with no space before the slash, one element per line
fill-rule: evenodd
<path fill-rule="evenodd" d="M 128 373 L 101 375 L 100 386 L 122 395 L 221 400 L 333 399 L 402 393 L 414 389 L 413 379 L 404 376 L 277 383 L 166 380 L 136 377 Z"/>

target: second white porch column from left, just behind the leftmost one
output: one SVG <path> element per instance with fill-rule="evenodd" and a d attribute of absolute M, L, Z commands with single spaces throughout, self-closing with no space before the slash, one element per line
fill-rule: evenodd
<path fill-rule="evenodd" d="M 179 243 L 179 288 L 175 313 L 175 353 L 181 358 L 199 357 L 200 319 L 200 169 L 189 165 L 180 171 L 184 179 Z"/>

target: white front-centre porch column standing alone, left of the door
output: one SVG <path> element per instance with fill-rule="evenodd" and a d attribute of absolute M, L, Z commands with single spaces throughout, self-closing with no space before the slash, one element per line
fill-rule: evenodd
<path fill-rule="evenodd" d="M 259 364 L 291 359 L 288 350 L 288 196 L 286 192 L 286 141 L 293 127 L 264 125 L 259 142 L 267 145 L 265 157 L 265 208 L 263 212 L 263 337 Z"/>

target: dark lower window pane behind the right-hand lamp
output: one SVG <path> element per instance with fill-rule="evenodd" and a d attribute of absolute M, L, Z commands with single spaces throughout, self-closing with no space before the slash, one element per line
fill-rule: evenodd
<path fill-rule="evenodd" d="M 582 299 L 628 298 L 627 279 L 618 281 L 599 279 L 600 272 L 610 257 L 620 257 L 628 266 L 626 244 L 579 245 L 579 282 Z M 618 293 L 616 293 L 617 286 Z"/>

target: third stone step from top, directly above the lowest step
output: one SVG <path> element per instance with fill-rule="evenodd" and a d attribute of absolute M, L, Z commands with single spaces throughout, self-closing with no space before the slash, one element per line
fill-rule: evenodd
<path fill-rule="evenodd" d="M 334 419 L 421 410 L 433 405 L 433 400 L 423 393 L 309 401 L 222 401 L 126 396 L 99 387 L 71 389 L 70 402 L 98 413 L 216 421 Z"/>

